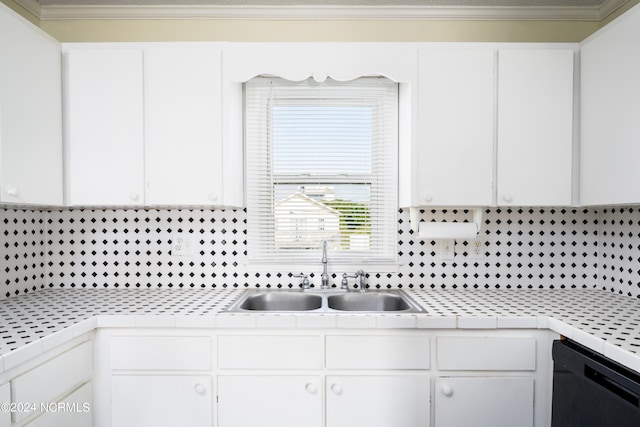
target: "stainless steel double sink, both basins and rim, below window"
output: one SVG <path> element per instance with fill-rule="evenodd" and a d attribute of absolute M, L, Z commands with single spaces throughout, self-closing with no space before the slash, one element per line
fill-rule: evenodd
<path fill-rule="evenodd" d="M 422 308 L 402 290 L 346 292 L 339 290 L 247 290 L 229 312 L 400 312 Z"/>

